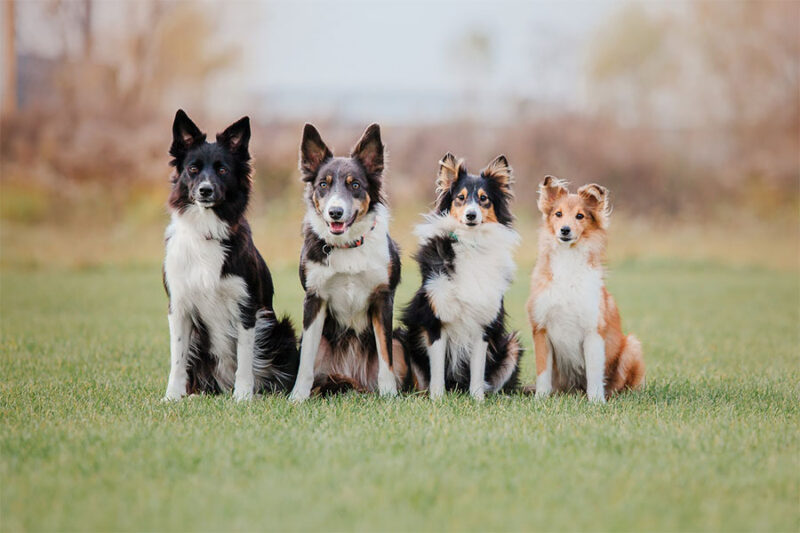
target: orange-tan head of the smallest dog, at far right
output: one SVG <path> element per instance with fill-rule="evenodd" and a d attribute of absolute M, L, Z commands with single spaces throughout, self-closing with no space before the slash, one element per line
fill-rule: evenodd
<path fill-rule="evenodd" d="M 539 185 L 538 206 L 548 231 L 567 246 L 608 226 L 608 189 L 595 183 L 570 194 L 565 181 L 547 176 Z"/>

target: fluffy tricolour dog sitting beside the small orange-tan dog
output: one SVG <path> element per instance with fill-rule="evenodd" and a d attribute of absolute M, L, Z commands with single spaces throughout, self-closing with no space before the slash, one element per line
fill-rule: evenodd
<path fill-rule="evenodd" d="M 431 398 L 469 390 L 482 400 L 487 391 L 517 386 L 522 347 L 506 330 L 503 307 L 519 242 L 512 184 L 502 155 L 479 175 L 450 153 L 439 162 L 435 212 L 416 228 L 422 286 L 395 332 L 415 387 Z"/>

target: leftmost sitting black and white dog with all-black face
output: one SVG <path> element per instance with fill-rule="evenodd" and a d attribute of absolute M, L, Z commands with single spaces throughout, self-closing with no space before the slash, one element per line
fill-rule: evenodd
<path fill-rule="evenodd" d="M 172 221 L 166 231 L 170 372 L 165 400 L 233 389 L 286 391 L 298 354 L 288 319 L 272 309 L 272 278 L 253 244 L 245 210 L 251 172 L 247 117 L 216 143 L 183 110 L 172 125 Z"/>

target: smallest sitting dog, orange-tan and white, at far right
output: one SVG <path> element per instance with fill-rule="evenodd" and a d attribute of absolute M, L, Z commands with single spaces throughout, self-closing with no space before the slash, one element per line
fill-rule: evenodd
<path fill-rule="evenodd" d="M 544 224 L 531 277 L 528 316 L 536 352 L 535 394 L 583 391 L 605 402 L 644 379 L 642 345 L 622 333 L 619 310 L 606 290 L 608 190 L 545 177 L 539 186 Z"/>

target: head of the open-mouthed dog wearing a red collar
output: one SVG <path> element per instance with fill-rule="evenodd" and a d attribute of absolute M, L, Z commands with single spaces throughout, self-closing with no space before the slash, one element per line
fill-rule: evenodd
<path fill-rule="evenodd" d="M 331 235 L 344 235 L 383 203 L 383 151 L 377 124 L 364 131 L 350 157 L 334 157 L 317 129 L 306 124 L 300 143 L 300 171 L 306 183 L 306 199 Z"/>

